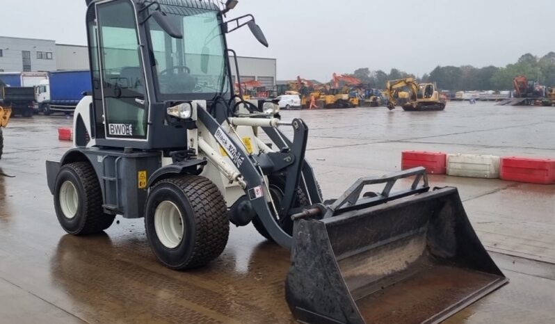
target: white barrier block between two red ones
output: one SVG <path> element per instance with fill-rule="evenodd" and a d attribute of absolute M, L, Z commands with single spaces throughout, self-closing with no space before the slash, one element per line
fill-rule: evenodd
<path fill-rule="evenodd" d="M 447 175 L 472 178 L 499 178 L 499 156 L 447 154 Z"/>

